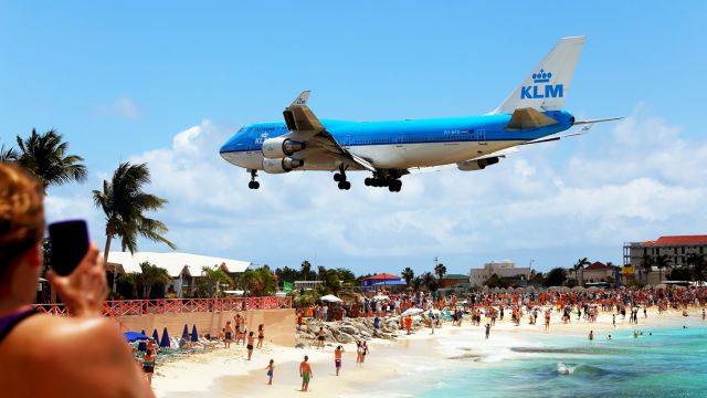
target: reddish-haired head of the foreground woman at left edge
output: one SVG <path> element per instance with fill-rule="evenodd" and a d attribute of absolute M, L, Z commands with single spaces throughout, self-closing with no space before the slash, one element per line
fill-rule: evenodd
<path fill-rule="evenodd" d="M 0 163 L 0 300 L 30 303 L 42 269 L 42 185 L 20 167 Z"/>

